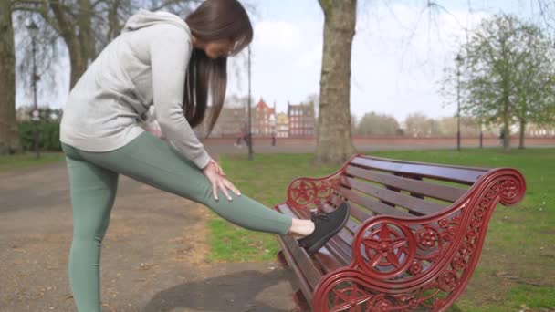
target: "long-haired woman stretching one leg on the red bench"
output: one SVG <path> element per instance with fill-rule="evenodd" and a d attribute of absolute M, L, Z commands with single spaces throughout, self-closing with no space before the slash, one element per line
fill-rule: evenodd
<path fill-rule="evenodd" d="M 79 311 L 100 311 L 100 248 L 120 173 L 203 203 L 247 229 L 290 234 L 310 254 L 346 223 L 346 204 L 299 220 L 242 195 L 194 135 L 208 99 L 214 111 L 209 129 L 214 126 L 225 98 L 227 57 L 252 37 L 236 0 L 207 0 L 185 20 L 141 9 L 71 89 L 60 141 L 73 207 L 69 283 Z M 152 105 L 171 144 L 138 124 Z"/>

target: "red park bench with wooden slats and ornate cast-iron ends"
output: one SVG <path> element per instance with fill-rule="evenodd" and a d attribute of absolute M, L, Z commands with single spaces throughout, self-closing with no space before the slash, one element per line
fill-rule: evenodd
<path fill-rule="evenodd" d="M 357 154 L 329 176 L 289 184 L 278 212 L 309 219 L 348 201 L 351 219 L 314 255 L 278 235 L 278 260 L 312 311 L 444 311 L 476 267 L 497 203 L 514 205 L 525 190 L 510 168 Z"/>

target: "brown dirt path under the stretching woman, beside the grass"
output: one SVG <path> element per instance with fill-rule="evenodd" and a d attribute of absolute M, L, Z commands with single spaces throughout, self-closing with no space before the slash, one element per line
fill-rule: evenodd
<path fill-rule="evenodd" d="M 0 173 L 0 311 L 75 311 L 66 163 Z M 103 311 L 289 311 L 276 263 L 209 264 L 208 208 L 120 176 L 101 254 Z"/>

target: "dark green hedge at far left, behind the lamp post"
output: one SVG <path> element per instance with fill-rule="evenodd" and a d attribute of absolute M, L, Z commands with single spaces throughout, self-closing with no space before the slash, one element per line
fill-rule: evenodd
<path fill-rule="evenodd" d="M 34 127 L 37 126 L 38 147 L 41 151 L 62 151 L 59 142 L 59 123 L 50 121 L 22 121 L 18 123 L 19 140 L 26 151 L 33 151 L 35 139 Z"/>

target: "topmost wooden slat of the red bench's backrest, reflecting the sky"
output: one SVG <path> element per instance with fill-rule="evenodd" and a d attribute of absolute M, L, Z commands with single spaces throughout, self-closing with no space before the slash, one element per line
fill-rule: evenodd
<path fill-rule="evenodd" d="M 407 174 L 417 174 L 425 178 L 432 178 L 443 181 L 452 181 L 472 185 L 486 171 L 454 168 L 447 166 L 436 166 L 431 164 L 411 163 L 409 161 L 382 161 L 368 157 L 357 157 L 351 163 L 378 169 L 386 172 L 402 172 Z"/>

